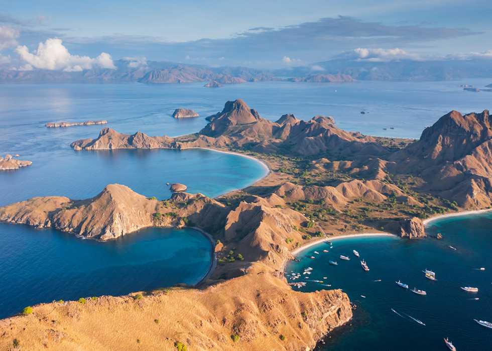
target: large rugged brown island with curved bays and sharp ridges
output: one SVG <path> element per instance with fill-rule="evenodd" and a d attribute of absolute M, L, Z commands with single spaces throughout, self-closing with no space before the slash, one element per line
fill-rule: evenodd
<path fill-rule="evenodd" d="M 105 128 L 71 146 L 79 152 L 216 149 L 265 162 L 268 176 L 215 199 L 186 192 L 147 198 L 111 184 L 91 199 L 38 197 L 0 208 L 3 222 L 101 241 L 148 226 L 198 228 L 214 243 L 207 279 L 195 287 L 36 305 L 33 314 L 0 324 L 6 335 L 0 346 L 18 338 L 36 340 L 26 341 L 33 350 L 131 349 L 139 339 L 149 349 L 178 342 L 202 350 L 313 349 L 351 319 L 353 305 L 337 289 L 293 291 L 284 277 L 293 252 L 347 234 L 425 238 L 423 219 L 492 205 L 488 110 L 450 111 L 419 140 L 346 132 L 322 115 L 302 121 L 284 114 L 271 122 L 242 100 L 227 101 L 207 121 L 199 133 L 176 138 Z M 86 330 L 99 332 L 87 336 Z M 114 330 L 127 331 L 115 337 Z"/>

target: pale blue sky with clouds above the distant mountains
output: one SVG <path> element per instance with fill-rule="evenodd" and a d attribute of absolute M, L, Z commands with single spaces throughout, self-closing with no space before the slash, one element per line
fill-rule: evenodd
<path fill-rule="evenodd" d="M 77 71 L 127 58 L 281 68 L 331 59 L 491 59 L 492 2 L 17 0 L 0 68 Z"/>

